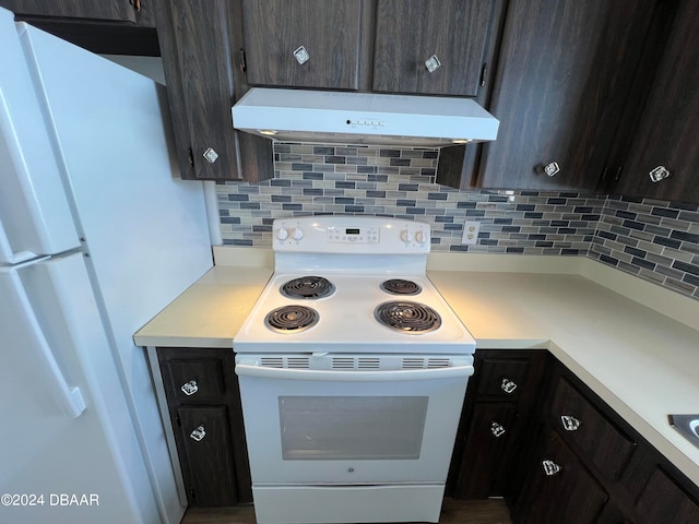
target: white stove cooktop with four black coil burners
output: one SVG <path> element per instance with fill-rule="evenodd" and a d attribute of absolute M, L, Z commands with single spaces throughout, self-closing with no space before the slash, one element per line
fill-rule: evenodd
<path fill-rule="evenodd" d="M 316 286 L 321 278 L 328 284 Z M 299 296 L 287 293 L 291 282 L 291 287 L 300 287 Z M 316 296 L 320 287 L 331 290 Z M 275 274 L 236 335 L 234 348 L 472 354 L 475 341 L 426 276 Z"/>

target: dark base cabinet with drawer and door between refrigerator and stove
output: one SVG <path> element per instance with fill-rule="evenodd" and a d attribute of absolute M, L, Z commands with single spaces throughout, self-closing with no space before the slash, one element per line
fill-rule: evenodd
<path fill-rule="evenodd" d="M 190 505 L 252 501 L 232 349 L 157 348 Z"/>

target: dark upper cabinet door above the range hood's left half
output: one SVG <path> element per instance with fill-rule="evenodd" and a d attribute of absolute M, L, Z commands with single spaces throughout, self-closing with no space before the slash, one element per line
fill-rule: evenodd
<path fill-rule="evenodd" d="M 250 85 L 359 88 L 362 0 L 242 0 Z"/>

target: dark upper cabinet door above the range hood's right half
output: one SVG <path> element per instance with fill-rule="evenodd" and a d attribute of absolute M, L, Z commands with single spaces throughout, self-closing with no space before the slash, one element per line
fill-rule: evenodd
<path fill-rule="evenodd" d="M 488 36 L 497 31 L 501 4 L 499 0 L 379 0 L 374 90 L 476 96 Z"/>

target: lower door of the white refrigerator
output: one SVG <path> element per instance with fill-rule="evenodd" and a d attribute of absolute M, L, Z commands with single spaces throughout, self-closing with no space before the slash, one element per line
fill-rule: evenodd
<path fill-rule="evenodd" d="M 0 270 L 1 522 L 161 522 L 82 259 Z M 47 369 L 69 405 L 81 392 L 76 418 Z"/>

